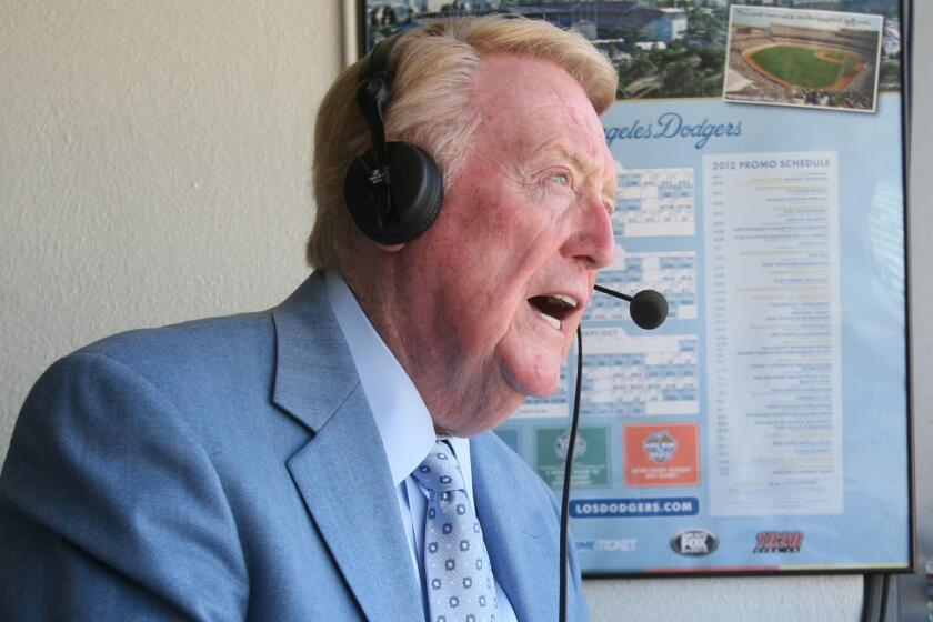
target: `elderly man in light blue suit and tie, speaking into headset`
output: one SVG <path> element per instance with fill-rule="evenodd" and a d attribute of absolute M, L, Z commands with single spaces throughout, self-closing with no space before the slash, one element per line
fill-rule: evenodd
<path fill-rule="evenodd" d="M 109 338 L 37 383 L 0 479 L 0 618 L 556 618 L 556 504 L 489 430 L 554 391 L 612 260 L 598 114 L 615 74 L 528 20 L 443 22 L 381 53 L 321 107 L 319 270 L 291 298 Z M 375 120 L 373 93 L 354 100 L 372 76 Z M 371 184 L 351 209 L 404 209 L 409 164 L 383 138 L 442 184 L 401 240 L 344 204 Z"/>

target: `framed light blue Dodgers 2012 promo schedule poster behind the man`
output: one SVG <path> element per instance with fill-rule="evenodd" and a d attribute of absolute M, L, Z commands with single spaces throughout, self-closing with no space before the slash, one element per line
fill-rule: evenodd
<path fill-rule="evenodd" d="M 598 282 L 670 307 L 645 331 L 594 293 L 583 320 L 584 573 L 906 570 L 901 4 L 482 4 L 574 28 L 619 69 Z M 388 6 L 367 4 L 371 37 Z M 496 430 L 558 496 L 575 357 Z"/>

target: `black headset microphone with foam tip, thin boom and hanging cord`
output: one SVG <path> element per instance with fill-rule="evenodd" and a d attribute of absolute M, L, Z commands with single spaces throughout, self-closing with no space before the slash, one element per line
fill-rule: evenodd
<path fill-rule="evenodd" d="M 624 294 L 609 288 L 595 284 L 598 292 L 620 298 L 629 302 L 629 314 L 639 327 L 652 330 L 668 319 L 668 301 L 654 290 L 642 290 L 635 295 Z M 570 442 L 566 447 L 564 461 L 563 495 L 561 496 L 561 572 L 560 572 L 560 605 L 558 609 L 560 622 L 566 620 L 566 566 L 568 566 L 568 521 L 570 518 L 570 476 L 573 472 L 573 448 L 576 444 L 576 428 L 580 422 L 580 394 L 583 387 L 583 331 L 576 327 L 576 384 L 573 393 L 573 418 L 570 422 Z"/>

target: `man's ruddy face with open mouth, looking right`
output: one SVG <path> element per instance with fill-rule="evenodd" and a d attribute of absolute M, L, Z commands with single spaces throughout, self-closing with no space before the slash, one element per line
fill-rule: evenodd
<path fill-rule="evenodd" d="M 481 61 L 481 122 L 441 214 L 399 259 L 407 369 L 439 430 L 470 435 L 558 387 L 612 261 L 615 162 L 580 84 L 521 56 Z"/>

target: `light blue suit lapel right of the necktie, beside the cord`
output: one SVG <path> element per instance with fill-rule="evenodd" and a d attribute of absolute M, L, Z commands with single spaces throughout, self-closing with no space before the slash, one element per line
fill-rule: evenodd
<path fill-rule="evenodd" d="M 473 498 L 483 525 L 495 580 L 509 595 L 515 616 L 551 620 L 558 612 L 558 548 L 554 514 L 525 499 L 509 474 L 514 472 L 501 458 L 496 439 L 489 432 L 470 440 Z M 521 486 L 519 486 L 521 489 Z"/>

